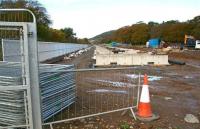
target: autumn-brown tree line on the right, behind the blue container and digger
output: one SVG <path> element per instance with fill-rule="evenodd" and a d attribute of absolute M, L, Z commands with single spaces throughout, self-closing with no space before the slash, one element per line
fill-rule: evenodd
<path fill-rule="evenodd" d="M 112 35 L 104 36 L 100 42 L 116 41 L 140 45 L 145 44 L 151 38 L 160 38 L 169 43 L 183 43 L 184 35 L 192 35 L 200 39 L 200 16 L 185 22 L 170 20 L 162 23 L 153 21 L 144 23 L 140 21 L 115 30 Z"/>

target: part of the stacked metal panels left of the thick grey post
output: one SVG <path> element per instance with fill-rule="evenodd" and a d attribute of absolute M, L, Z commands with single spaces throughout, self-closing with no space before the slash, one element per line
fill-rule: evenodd
<path fill-rule="evenodd" d="M 21 68 L 13 70 L 14 64 L 0 65 L 0 86 L 23 85 Z M 26 112 L 26 90 L 0 91 L 0 124 L 1 125 L 25 125 L 28 120 Z"/>

